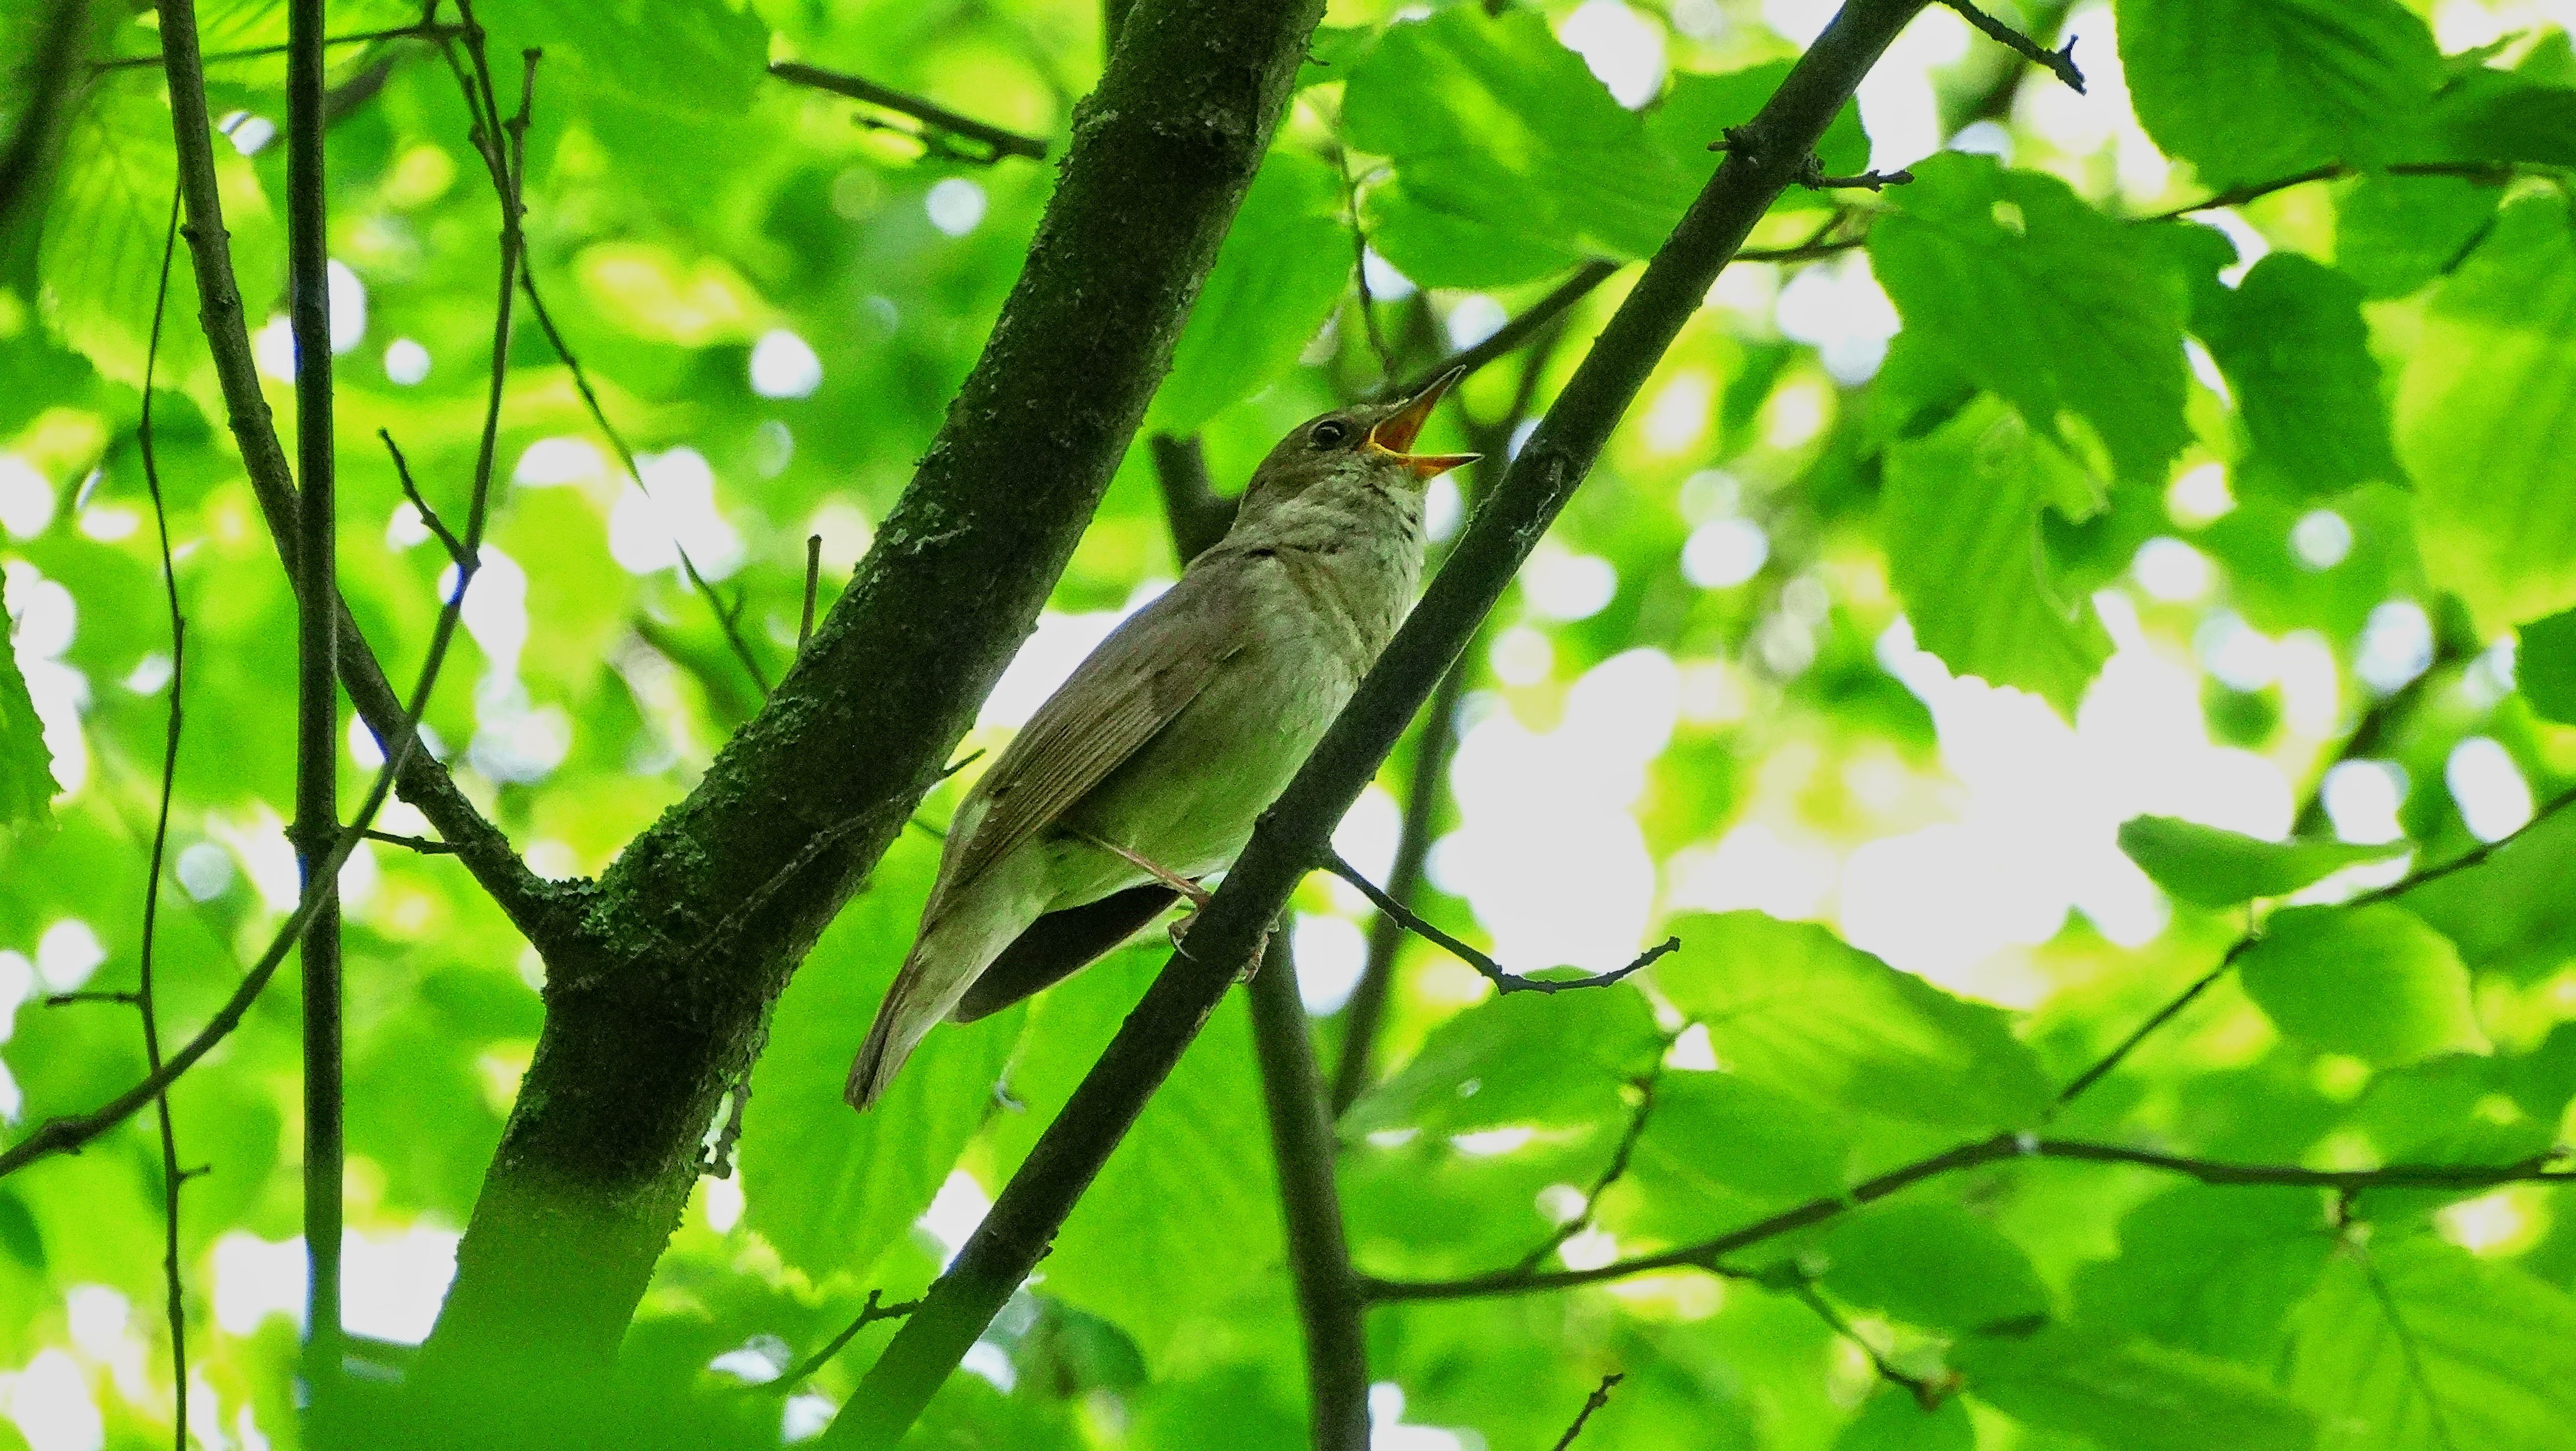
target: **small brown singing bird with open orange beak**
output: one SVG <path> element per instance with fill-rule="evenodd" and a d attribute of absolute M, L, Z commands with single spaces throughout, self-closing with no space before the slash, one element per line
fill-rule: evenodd
<path fill-rule="evenodd" d="M 868 1108 L 940 1018 L 971 1023 L 1097 961 L 1234 861 L 1386 649 L 1422 577 L 1412 454 L 1458 371 L 1301 423 L 1234 528 L 1074 668 L 948 827 L 920 936 L 850 1064 Z"/>

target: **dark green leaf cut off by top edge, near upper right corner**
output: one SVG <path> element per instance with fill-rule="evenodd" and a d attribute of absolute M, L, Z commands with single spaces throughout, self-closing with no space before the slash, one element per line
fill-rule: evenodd
<path fill-rule="evenodd" d="M 2120 0 L 2120 67 L 2146 134 L 2213 186 L 2409 160 L 2442 80 L 2398 0 Z"/>

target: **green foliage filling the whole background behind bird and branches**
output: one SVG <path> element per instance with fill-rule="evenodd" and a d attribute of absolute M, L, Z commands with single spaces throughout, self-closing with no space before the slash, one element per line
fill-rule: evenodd
<path fill-rule="evenodd" d="M 0 0 L 0 34 L 28 34 L 36 10 Z M 1744 1242 L 1726 1276 L 1370 1307 L 1368 1376 L 1404 1399 L 1396 1425 L 1378 1392 L 1378 1441 L 1445 1428 L 1553 1446 L 1620 1371 L 1582 1451 L 2576 1451 L 2576 1209 L 2555 1180 L 2213 1186 L 1996 1137 L 2517 1175 L 2558 1162 L 2576 1095 L 2576 809 L 2553 809 L 2576 786 L 2576 232 L 2561 196 L 2576 49 L 2481 0 L 2439 5 L 2445 36 L 2499 36 L 2455 57 L 2419 18 L 2434 8 L 2401 0 L 2117 10 L 2154 147 L 2120 88 L 2043 95 L 2056 80 L 1984 36 L 1955 59 L 1906 44 L 1883 62 L 1888 95 L 1929 98 L 1917 116 L 1940 134 L 1870 137 L 1847 103 L 1816 160 L 1919 180 L 1772 204 L 1749 245 L 1821 255 L 1718 278 L 1466 655 L 1463 745 L 1430 807 L 1417 907 L 1504 961 L 1607 966 L 1625 956 L 1613 946 L 1667 930 L 1685 946 L 1613 987 L 1494 995 L 1406 943 L 1381 1072 L 1332 1124 L 1355 1268 L 1445 1281 Z M 1798 52 L 1762 5 L 1713 13 L 1723 26 L 1705 5 L 1337 8 L 1144 428 L 1198 433 L 1231 492 L 1298 418 L 1368 397 L 1388 369 L 1419 376 L 1587 258 L 1654 253 L 1721 165 L 1710 142 Z M 343 0 L 332 28 L 417 15 Z M 544 49 L 531 273 L 659 505 L 623 479 L 520 299 L 489 536 L 510 567 L 477 585 L 428 724 L 531 866 L 598 876 L 762 706 L 716 611 L 657 552 L 677 533 L 711 564 L 719 608 L 775 678 L 806 539 L 824 539 L 829 608 L 987 345 L 1056 178 L 943 155 L 896 134 L 912 119 L 770 80 L 765 62 L 866 75 L 1061 157 L 1100 8 L 484 0 L 477 15 L 505 111 L 518 52 Z M 2102 72 L 2087 15 L 2063 31 Z M 98 10 L 90 41 L 147 57 L 147 18 Z M 198 18 L 214 52 L 286 36 L 276 0 L 201 0 Z M 0 67 L 10 134 L 15 54 Z M 376 428 L 459 523 L 497 206 L 435 46 L 337 46 L 327 80 L 327 242 L 366 296 L 363 327 L 340 309 L 358 340 L 337 356 L 337 557 L 402 683 L 443 557 Z M 1613 80 L 1643 101 L 1620 106 Z M 258 142 L 286 119 L 281 82 L 276 54 L 214 62 L 211 111 L 240 137 L 216 144 L 216 173 L 242 322 L 270 366 L 286 144 Z M 152 67 L 82 70 L 0 235 L 0 564 L 18 611 L 0 822 L 52 804 L 44 830 L 0 832 L 10 1142 L 95 1108 L 144 1062 L 118 995 L 139 985 L 170 706 L 137 436 L 175 162 L 162 90 Z M 1358 312 L 1363 247 L 1417 283 L 1373 296 L 1391 366 Z M 1633 276 L 1471 376 L 1432 425 L 1440 446 L 1507 459 L 1528 425 L 1515 397 L 1558 397 Z M 165 1049 L 206 1023 L 294 892 L 291 595 L 196 314 L 183 247 L 152 399 L 188 616 L 155 925 Z M 263 387 L 291 425 L 291 389 Z M 1066 392 L 1069 412 L 1084 405 Z M 1435 487 L 1435 567 L 1450 505 L 1497 479 Z M 1002 747 L 1030 680 L 1079 652 L 1066 642 L 1175 570 L 1139 448 L 1038 621 L 1030 675 L 958 753 Z M 1942 678 L 1909 644 L 2009 691 Z M 77 722 L 57 750 L 36 704 Z M 757 729 L 796 722 L 773 711 Z M 1383 778 L 1396 802 L 1414 750 Z M 343 802 L 363 760 L 361 732 Z M 2517 786 L 2540 820 L 2494 845 L 2519 820 Z M 1002 1191 L 1164 961 L 1149 930 L 1025 1008 L 940 1026 L 889 1098 L 853 1113 L 842 1075 L 912 941 L 927 827 L 956 796 L 920 804 L 925 830 L 796 966 L 732 1085 L 739 1139 L 719 1116 L 683 1144 L 729 1147 L 737 1173 L 690 1196 L 592 1438 L 775 1446 L 783 1420 L 845 1399 L 891 1325 L 822 1366 L 786 1417 L 734 1371 L 819 1350 L 868 1291 L 920 1294 L 961 1209 Z M 381 825 L 430 835 L 402 804 Z M 1350 832 L 1381 843 L 1386 799 Z M 1347 853 L 1368 858 L 1360 845 Z M 2349 899 L 2342 869 L 2401 856 L 2424 881 Z M 368 843 L 345 884 L 348 1214 L 368 1247 L 350 1302 L 425 1320 L 549 995 L 595 985 L 538 961 L 448 856 Z M 2084 1077 L 2249 920 L 2241 972 Z M 1337 884 L 1301 892 L 1309 990 L 1352 966 L 1365 928 Z M 62 990 L 95 1000 L 44 1005 Z M 724 985 L 670 990 L 685 1021 Z M 1316 1013 L 1327 1077 L 1345 1036 L 1345 1013 Z M 196 1405 L 214 1402 L 191 1428 L 242 1443 L 299 1433 L 291 1320 L 237 1322 L 263 1255 L 291 1255 L 301 1232 L 299 1054 L 286 972 L 173 1093 L 180 1162 L 209 1170 L 185 1180 L 178 1227 Z M 1260 1088 L 1236 995 L 912 1446 L 1309 1443 Z M 1963 1144 L 1973 1168 L 1919 1170 Z M 0 1371 L 72 1366 L 108 1446 L 167 1443 L 160 1173 L 144 1113 L 0 1183 Z M 1855 1338 L 1940 1405 L 1870 1384 Z M 49 1350 L 70 1361 L 36 1361 Z M 39 1389 L 62 1387 L 23 1376 L 13 1405 Z"/>

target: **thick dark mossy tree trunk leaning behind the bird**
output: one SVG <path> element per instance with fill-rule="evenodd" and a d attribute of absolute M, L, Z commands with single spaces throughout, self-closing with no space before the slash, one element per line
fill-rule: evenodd
<path fill-rule="evenodd" d="M 1141 0 L 1028 268 L 811 647 L 549 933 L 546 1028 L 420 1381 L 603 1369 L 770 1005 L 938 781 L 1100 503 L 1321 0 Z M 853 1044 L 860 1023 L 853 1023 Z"/>

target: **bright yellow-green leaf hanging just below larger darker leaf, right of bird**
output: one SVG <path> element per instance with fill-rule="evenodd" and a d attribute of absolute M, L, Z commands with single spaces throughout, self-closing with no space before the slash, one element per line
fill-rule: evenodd
<path fill-rule="evenodd" d="M 1914 642 L 1960 675 L 2030 691 L 2074 719 L 2110 660 L 2092 601 L 2058 601 L 2040 510 L 2084 487 L 2066 454 L 1986 397 L 1888 448 L 1880 539 Z"/>

